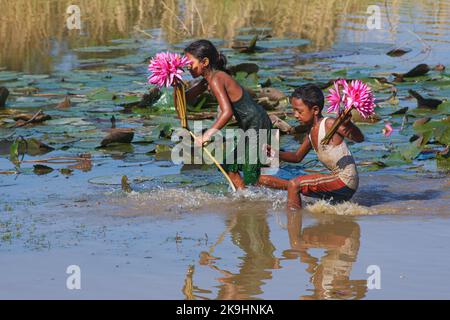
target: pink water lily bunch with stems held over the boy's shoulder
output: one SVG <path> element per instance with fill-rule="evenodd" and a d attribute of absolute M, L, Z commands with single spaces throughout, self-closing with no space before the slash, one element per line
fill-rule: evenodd
<path fill-rule="evenodd" d="M 322 140 L 322 144 L 330 142 L 339 126 L 350 117 L 353 109 L 357 110 L 364 118 L 375 113 L 375 98 L 372 90 L 361 80 L 347 82 L 345 79 L 339 79 L 335 81 L 327 100 L 330 104 L 328 112 L 335 112 L 339 116 L 330 132 Z"/>

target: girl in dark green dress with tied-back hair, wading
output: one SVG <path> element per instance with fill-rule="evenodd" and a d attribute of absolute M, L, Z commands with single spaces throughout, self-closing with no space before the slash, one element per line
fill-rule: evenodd
<path fill-rule="evenodd" d="M 203 77 L 202 81 L 186 92 L 186 100 L 193 101 L 209 88 L 219 102 L 220 108 L 216 122 L 196 139 L 196 144 L 202 146 L 203 143 L 210 141 L 213 135 L 221 130 L 234 115 L 239 128 L 244 132 L 250 129 L 255 130 L 257 141 L 250 143 L 246 139 L 245 155 L 237 155 L 237 148 L 234 149 L 224 161 L 226 164 L 223 167 L 238 189 L 243 189 L 246 185 L 258 184 L 263 167 L 260 162 L 259 148 L 261 148 L 261 152 L 264 152 L 262 143 L 260 143 L 260 135 L 267 134 L 266 143 L 269 144 L 272 128 L 272 122 L 267 112 L 253 101 L 250 94 L 225 71 L 226 58 L 210 41 L 195 41 L 184 49 L 184 52 L 191 61 L 188 69 L 192 77 Z M 260 131 L 260 129 L 265 130 Z M 255 155 L 256 158 L 253 159 L 254 157 L 252 158 L 250 155 Z M 234 158 L 231 159 L 233 161 L 230 161 L 230 158 Z M 232 164 L 230 164 L 231 162 Z M 240 176 L 239 171 L 243 172 L 243 177 Z"/>

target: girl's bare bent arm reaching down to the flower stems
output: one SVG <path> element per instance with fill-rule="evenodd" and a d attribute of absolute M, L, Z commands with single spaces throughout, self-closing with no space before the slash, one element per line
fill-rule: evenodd
<path fill-rule="evenodd" d="M 206 141 L 209 141 L 211 137 L 220 129 L 225 127 L 225 125 L 230 121 L 233 117 L 233 109 L 231 107 L 230 98 L 228 97 L 227 91 L 225 89 L 225 84 L 218 78 L 215 78 L 209 84 L 211 91 L 215 95 L 217 101 L 219 102 L 220 115 L 217 118 L 216 122 L 209 128 L 199 140 L 198 143 L 203 144 Z"/>

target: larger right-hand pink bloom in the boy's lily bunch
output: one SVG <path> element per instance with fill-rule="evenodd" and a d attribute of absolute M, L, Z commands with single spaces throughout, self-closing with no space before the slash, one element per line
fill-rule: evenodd
<path fill-rule="evenodd" d="M 353 80 L 343 92 L 347 99 L 347 109 L 355 107 L 364 118 L 375 112 L 375 98 L 372 90 L 361 80 Z"/>

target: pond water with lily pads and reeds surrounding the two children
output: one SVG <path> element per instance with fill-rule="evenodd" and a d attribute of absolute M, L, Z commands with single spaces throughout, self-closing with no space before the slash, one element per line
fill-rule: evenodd
<path fill-rule="evenodd" d="M 10 91 L 0 109 L 1 298 L 450 298 L 450 1 L 376 2 L 375 30 L 369 1 L 79 3 L 82 28 L 68 30 L 70 1 L 0 0 L 8 44 L 0 87 Z M 233 49 L 254 35 L 264 38 L 260 51 Z M 381 121 L 361 123 L 366 141 L 350 144 L 361 176 L 351 203 L 306 199 L 301 212 L 286 212 L 283 191 L 231 194 L 216 169 L 170 161 L 179 125 L 171 93 L 137 106 L 146 63 L 200 37 L 230 65 L 257 64 L 257 76 L 237 75 L 254 90 L 270 83 L 289 95 L 339 77 L 370 83 Z M 398 48 L 408 52 L 386 54 Z M 392 73 L 420 63 L 431 70 L 394 82 Z M 418 109 L 408 90 L 443 102 Z M 39 110 L 52 119 L 15 127 L 14 117 Z M 133 142 L 99 148 L 113 116 L 134 130 Z M 10 150 L 20 136 L 28 150 L 18 167 Z M 298 138 L 283 135 L 281 146 L 294 149 Z M 314 159 L 282 164 L 278 175 L 321 171 Z M 122 191 L 124 175 L 132 193 Z M 70 265 L 82 270 L 80 291 L 66 289 Z M 374 268 L 380 289 L 367 282 Z"/>

